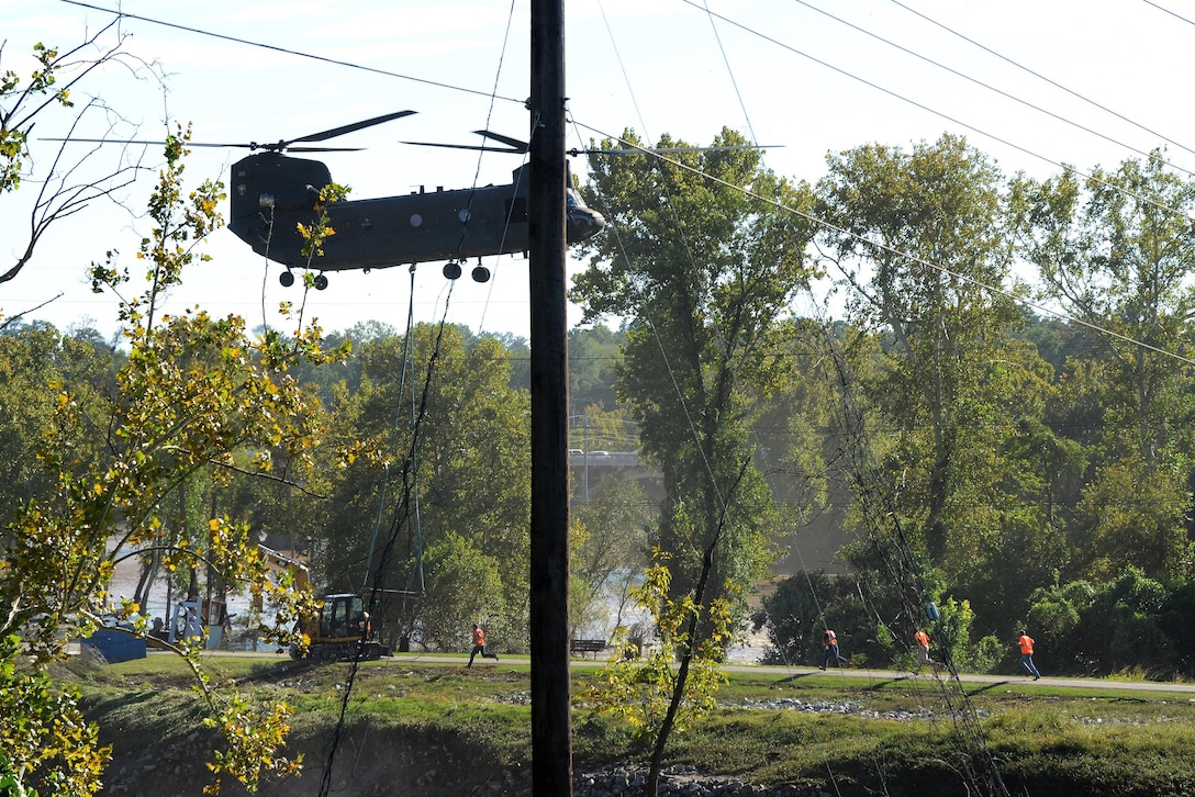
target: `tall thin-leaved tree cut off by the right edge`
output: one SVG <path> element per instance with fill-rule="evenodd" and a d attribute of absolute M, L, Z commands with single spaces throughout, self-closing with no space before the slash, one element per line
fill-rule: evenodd
<path fill-rule="evenodd" d="M 1081 182 L 1067 171 L 1013 186 L 1021 252 L 1044 295 L 1111 333 L 1067 374 L 1098 407 L 1086 421 L 1102 453 L 1071 532 L 1076 575 L 1105 577 L 1128 564 L 1187 575 L 1195 184 L 1163 155 L 1096 168 Z"/>

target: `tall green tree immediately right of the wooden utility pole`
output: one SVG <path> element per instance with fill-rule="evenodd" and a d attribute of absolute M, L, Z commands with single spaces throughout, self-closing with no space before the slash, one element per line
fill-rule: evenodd
<path fill-rule="evenodd" d="M 587 241 L 590 266 L 572 292 L 587 321 L 627 319 L 618 392 L 639 424 L 641 452 L 663 473 L 656 535 L 674 557 L 674 599 L 694 588 L 718 534 L 715 591 L 697 599 L 703 606 L 728 581 L 755 583 L 774 556 L 778 517 L 750 464 L 749 430 L 779 375 L 771 356 L 779 323 L 813 274 L 809 226 L 780 207 L 805 207 L 805 189 L 764 168 L 746 143 L 723 130 L 716 151 L 594 161 L 586 198 L 609 229 Z M 658 146 L 684 142 L 666 136 Z M 681 522 L 694 509 L 698 521 Z M 734 601 L 743 617 L 743 597 Z"/>

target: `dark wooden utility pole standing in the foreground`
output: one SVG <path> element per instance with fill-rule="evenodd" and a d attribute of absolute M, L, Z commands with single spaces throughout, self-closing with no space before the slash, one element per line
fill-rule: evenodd
<path fill-rule="evenodd" d="M 531 4 L 531 754 L 533 797 L 572 793 L 564 0 Z"/>

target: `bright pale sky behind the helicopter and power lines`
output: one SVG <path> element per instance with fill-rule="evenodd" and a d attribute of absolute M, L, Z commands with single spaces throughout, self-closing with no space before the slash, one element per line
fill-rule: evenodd
<path fill-rule="evenodd" d="M 76 103 L 99 97 L 118 119 L 90 112 L 75 135 L 159 141 L 182 123 L 195 141 L 277 141 L 409 109 L 417 114 L 329 142 L 362 152 L 319 157 L 353 198 L 508 183 L 521 163 L 400 142 L 476 143 L 470 131 L 480 128 L 526 137 L 527 0 L 0 0 L 0 70 L 27 73 L 33 43 L 74 47 L 116 10 L 127 14 L 124 51 L 164 81 L 117 66 L 80 84 Z M 1115 168 L 1157 147 L 1176 170 L 1195 171 L 1185 85 L 1195 74 L 1195 11 L 1178 0 L 569 0 L 565 14 L 569 147 L 626 128 L 650 141 L 668 134 L 705 145 L 729 127 L 768 146 L 774 172 L 814 183 L 828 153 L 909 148 L 952 133 L 1007 174 Z M 35 170 L 59 146 L 39 137 L 67 135 L 72 118 L 39 118 Z M 153 168 L 121 189 L 123 207 L 97 201 L 51 227 L 25 270 L 0 283 L 0 313 L 115 332 L 116 300 L 92 294 L 85 269 L 115 251 L 120 265 L 145 270 L 134 255 L 149 229 L 143 208 L 161 151 L 104 147 L 80 172 L 129 152 Z M 244 154 L 192 149 L 189 185 L 228 182 Z M 572 170 L 583 179 L 584 159 Z M 24 249 L 35 190 L 26 180 L 0 196 L 0 268 Z M 406 266 L 330 274 L 326 290 L 305 298 L 278 284 L 282 266 L 227 229 L 206 251 L 212 260 L 184 275 L 171 312 L 201 306 L 251 327 L 293 329 L 275 309 L 289 300 L 327 331 L 362 321 L 402 331 L 411 307 L 416 321 L 529 335 L 522 257 L 486 258 L 491 282 L 466 276 L 451 293 L 441 264 L 428 263 L 413 275 Z M 572 259 L 570 274 L 583 265 Z M 580 318 L 570 308 L 570 320 Z"/>

